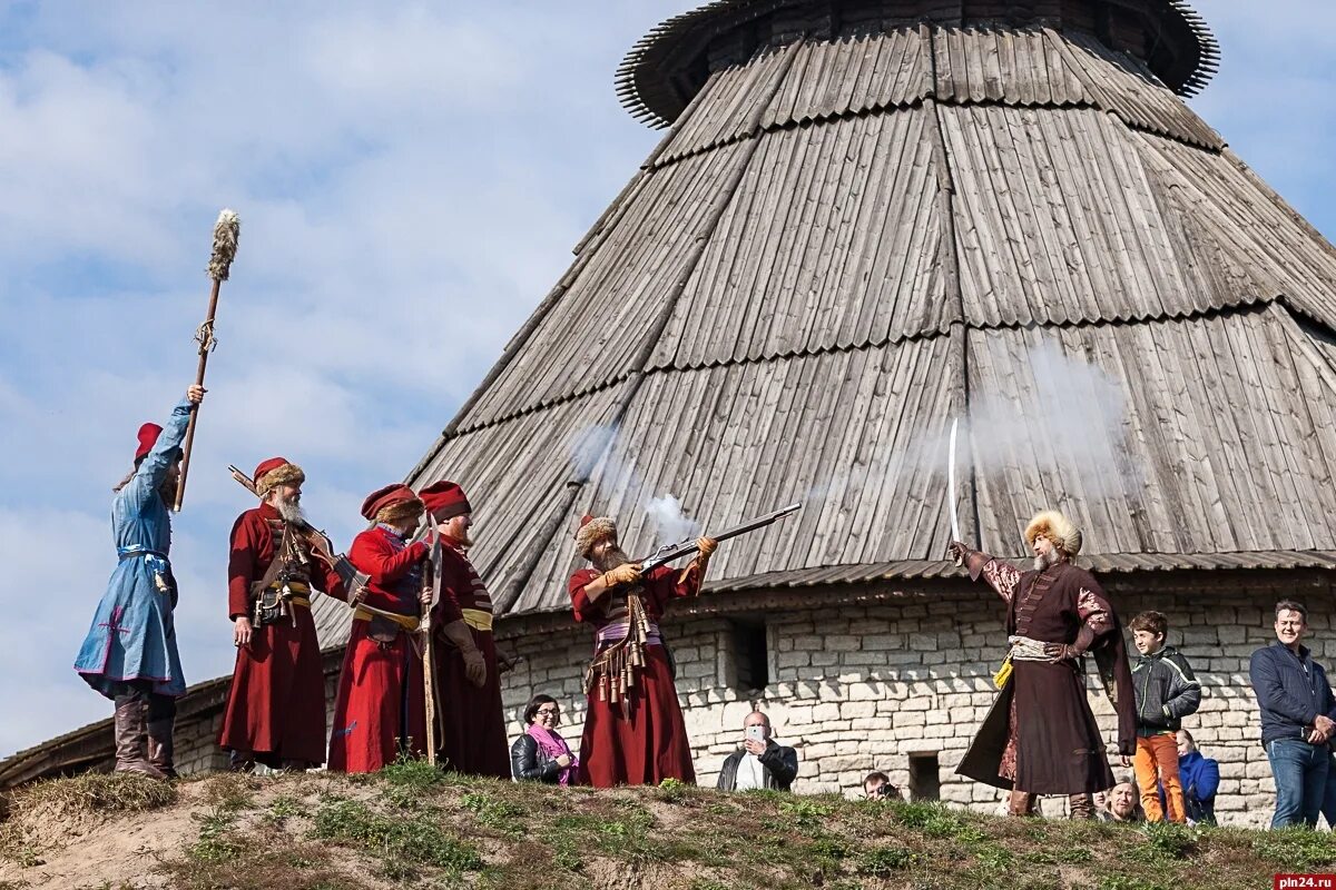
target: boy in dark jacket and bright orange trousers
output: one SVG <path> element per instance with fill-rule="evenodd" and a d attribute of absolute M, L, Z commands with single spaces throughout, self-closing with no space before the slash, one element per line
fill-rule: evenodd
<path fill-rule="evenodd" d="M 1132 687 L 1137 697 L 1137 754 L 1132 767 L 1141 789 L 1141 807 L 1148 822 L 1162 822 L 1160 785 L 1170 822 L 1188 819 L 1178 781 L 1177 731 L 1182 718 L 1201 705 L 1201 683 L 1188 659 L 1173 646 L 1165 646 L 1169 620 L 1161 612 L 1141 612 L 1132 619 L 1132 639 L 1141 655 L 1132 666 Z M 1128 758 L 1122 758 L 1128 766 Z"/>

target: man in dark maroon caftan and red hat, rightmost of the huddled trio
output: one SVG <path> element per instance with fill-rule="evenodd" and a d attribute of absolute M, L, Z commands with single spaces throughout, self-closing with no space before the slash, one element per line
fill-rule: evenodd
<path fill-rule="evenodd" d="M 473 507 L 453 482 L 421 491 L 441 535 L 441 595 L 432 608 L 437 762 L 457 773 L 510 778 L 492 596 L 465 555 Z"/>

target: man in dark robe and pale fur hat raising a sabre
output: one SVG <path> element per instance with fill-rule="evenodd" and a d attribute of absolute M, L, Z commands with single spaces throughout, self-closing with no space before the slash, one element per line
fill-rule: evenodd
<path fill-rule="evenodd" d="M 1001 691 L 957 773 L 1010 790 L 1007 811 L 1029 815 L 1039 794 L 1069 795 L 1073 818 L 1094 818 L 1092 794 L 1113 787 L 1104 739 L 1085 689 L 1093 652 L 1118 713 L 1118 751 L 1137 745 L 1136 699 L 1122 628 L 1094 576 L 1071 564 L 1081 531 L 1057 511 L 1030 520 L 1025 540 L 1034 570 L 1022 572 L 951 543 L 970 578 L 983 579 L 1007 606 L 1007 663 Z"/>

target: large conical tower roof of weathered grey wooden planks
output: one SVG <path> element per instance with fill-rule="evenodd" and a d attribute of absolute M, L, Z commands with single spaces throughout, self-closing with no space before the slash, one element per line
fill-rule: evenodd
<path fill-rule="evenodd" d="M 1104 570 L 1331 566 L 1333 295 L 1336 251 L 1096 33 L 766 44 L 708 75 L 409 482 L 464 484 L 510 612 L 568 606 L 581 514 L 648 550 L 664 492 L 709 528 L 807 503 L 723 547 L 720 588 L 949 571 L 965 416 L 985 548 L 1058 507 Z"/>

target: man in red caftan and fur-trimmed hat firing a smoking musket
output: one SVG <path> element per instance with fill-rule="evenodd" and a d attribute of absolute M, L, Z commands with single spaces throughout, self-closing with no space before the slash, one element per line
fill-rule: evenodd
<path fill-rule="evenodd" d="M 577 622 L 595 628 L 595 656 L 585 670 L 581 785 L 696 781 L 659 619 L 668 600 L 700 592 L 715 542 L 701 538 L 699 544 L 700 554 L 687 568 L 661 566 L 641 576 L 640 566 L 617 546 L 612 519 L 580 520 L 576 550 L 593 568 L 570 576 L 570 606 Z"/>

